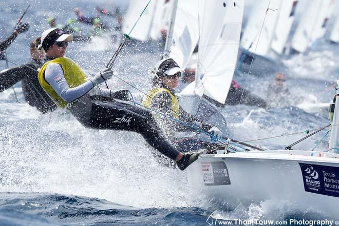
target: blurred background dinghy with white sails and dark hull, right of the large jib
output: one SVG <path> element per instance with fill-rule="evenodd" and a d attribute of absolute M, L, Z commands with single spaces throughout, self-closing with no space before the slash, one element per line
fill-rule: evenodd
<path fill-rule="evenodd" d="M 260 0 L 254 4 L 241 37 L 238 70 L 254 74 L 281 70 L 275 60 L 283 54 L 293 24 L 296 0 Z"/>

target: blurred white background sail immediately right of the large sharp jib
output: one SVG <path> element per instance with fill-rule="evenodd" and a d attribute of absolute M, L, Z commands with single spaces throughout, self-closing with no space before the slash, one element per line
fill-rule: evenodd
<path fill-rule="evenodd" d="M 281 0 L 256 1 L 241 38 L 241 46 L 244 49 L 255 52 L 257 55 L 267 55 L 271 47 L 281 2 Z"/>

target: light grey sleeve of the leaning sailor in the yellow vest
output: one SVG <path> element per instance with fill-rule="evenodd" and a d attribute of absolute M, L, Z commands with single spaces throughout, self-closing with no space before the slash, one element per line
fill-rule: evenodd
<path fill-rule="evenodd" d="M 93 84 L 90 80 L 80 86 L 69 88 L 62 67 L 55 63 L 50 63 L 46 67 L 45 79 L 54 91 L 68 103 L 82 97 L 93 89 Z"/>

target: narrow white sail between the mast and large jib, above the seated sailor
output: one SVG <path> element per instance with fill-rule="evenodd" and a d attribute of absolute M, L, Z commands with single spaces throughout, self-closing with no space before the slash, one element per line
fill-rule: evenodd
<path fill-rule="evenodd" d="M 173 27 L 170 57 L 185 68 L 199 39 L 196 0 L 179 0 Z"/>

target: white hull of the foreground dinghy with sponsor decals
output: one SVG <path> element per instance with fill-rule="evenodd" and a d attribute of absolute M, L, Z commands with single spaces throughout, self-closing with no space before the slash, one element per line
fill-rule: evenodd
<path fill-rule="evenodd" d="M 339 155 L 321 152 L 318 157 L 319 152 L 313 152 L 313 156 L 308 151 L 302 153 L 308 156 L 300 155 L 300 151 L 219 151 L 216 155 L 203 155 L 187 168 L 188 178 L 191 186 L 227 204 L 229 209 L 273 199 L 295 203 L 302 210 L 338 216 Z M 312 172 L 305 171 L 310 167 Z M 317 179 L 316 173 L 310 175 L 313 171 Z M 327 186 L 331 184 L 335 189 L 324 187 L 324 177 L 332 181 Z"/>

